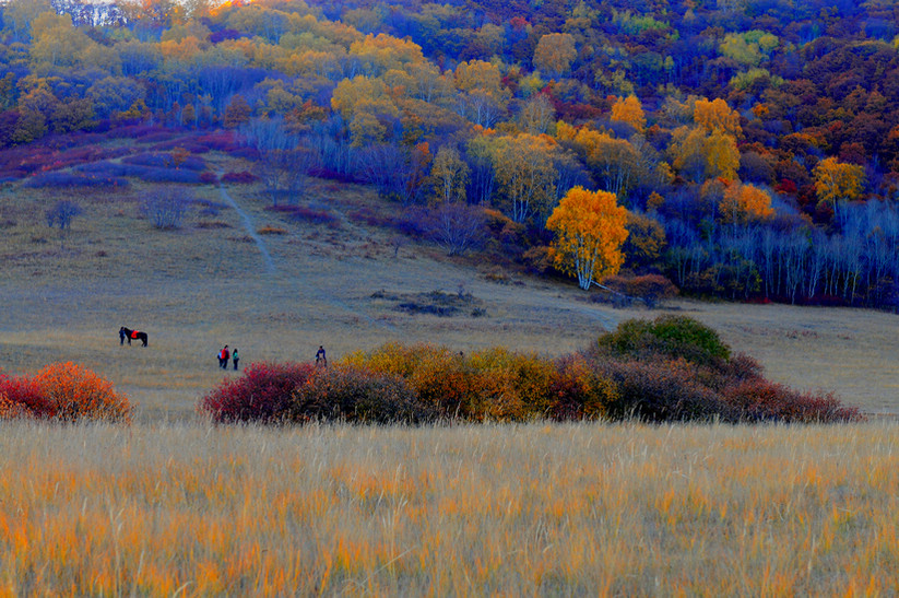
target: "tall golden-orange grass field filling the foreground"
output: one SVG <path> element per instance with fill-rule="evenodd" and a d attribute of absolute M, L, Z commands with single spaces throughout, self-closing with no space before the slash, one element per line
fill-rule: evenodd
<path fill-rule="evenodd" d="M 895 424 L 3 424 L 0 596 L 895 595 Z"/>

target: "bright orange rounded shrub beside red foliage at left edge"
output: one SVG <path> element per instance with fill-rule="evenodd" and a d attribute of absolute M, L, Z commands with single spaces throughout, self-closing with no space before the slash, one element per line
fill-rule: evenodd
<path fill-rule="evenodd" d="M 113 383 L 72 362 L 55 363 L 37 373 L 34 382 L 47 401 L 48 417 L 130 423 L 133 408 L 115 391 Z"/>

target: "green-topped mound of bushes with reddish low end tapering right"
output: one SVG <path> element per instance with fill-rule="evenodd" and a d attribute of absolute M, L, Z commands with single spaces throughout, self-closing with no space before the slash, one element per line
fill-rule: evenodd
<path fill-rule="evenodd" d="M 731 355 L 711 328 L 684 316 L 628 320 L 600 337 L 591 356 L 619 391 L 614 418 L 728 422 L 860 420 L 832 395 L 797 392 L 762 376 L 758 362 Z"/>

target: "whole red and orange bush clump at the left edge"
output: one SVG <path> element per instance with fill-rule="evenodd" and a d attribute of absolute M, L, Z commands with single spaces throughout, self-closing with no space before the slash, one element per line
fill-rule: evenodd
<path fill-rule="evenodd" d="M 132 412 L 128 398 L 110 382 L 71 362 L 50 364 L 34 377 L 0 374 L 0 420 L 130 423 Z"/>

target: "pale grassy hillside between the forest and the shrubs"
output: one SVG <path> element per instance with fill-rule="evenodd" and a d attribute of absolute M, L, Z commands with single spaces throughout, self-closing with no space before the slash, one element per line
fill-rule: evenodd
<path fill-rule="evenodd" d="M 209 154 L 213 172 L 247 164 Z M 0 367 L 29 373 L 75 361 L 139 403 L 139 418 L 190 415 L 218 383 L 215 353 L 243 364 L 331 357 L 387 341 L 474 350 L 505 345 L 557 355 L 587 347 L 641 308 L 588 301 L 572 283 L 529 278 L 478 256 L 449 259 L 402 237 L 393 206 L 370 190 L 316 181 L 299 212 L 267 209 L 261 185 L 166 185 L 194 198 L 184 225 L 159 231 L 142 215 L 161 184 L 118 190 L 0 188 Z M 78 203 L 64 234 L 45 211 Z M 454 307 L 450 316 L 428 313 Z M 403 306 L 405 308 L 403 308 Z M 417 308 L 417 309 L 416 309 Z M 895 316 L 868 310 L 675 302 L 665 306 L 718 329 L 769 376 L 832 389 L 867 411 L 899 409 Z M 120 347 L 120 326 L 150 347 Z"/>

